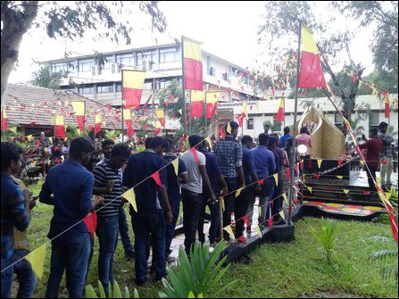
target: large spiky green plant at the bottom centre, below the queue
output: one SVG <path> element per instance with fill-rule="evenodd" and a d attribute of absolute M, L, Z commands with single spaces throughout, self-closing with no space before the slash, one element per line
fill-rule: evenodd
<path fill-rule="evenodd" d="M 195 242 L 189 259 L 183 247 L 180 246 L 178 265 L 174 270 L 168 267 L 169 281 L 162 279 L 164 290 L 159 293 L 159 296 L 161 298 L 187 298 L 192 293 L 193 298 L 200 298 L 206 297 L 210 292 L 214 295 L 226 290 L 235 283 L 233 281 L 226 286 L 218 286 L 220 278 L 229 270 L 229 265 L 221 269 L 227 256 L 220 259 L 220 254 L 227 246 L 227 242 L 221 241 L 212 253 L 209 253 L 209 242 L 205 242 L 204 245 Z"/>

